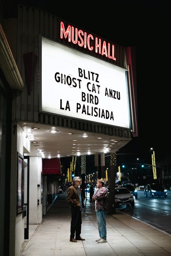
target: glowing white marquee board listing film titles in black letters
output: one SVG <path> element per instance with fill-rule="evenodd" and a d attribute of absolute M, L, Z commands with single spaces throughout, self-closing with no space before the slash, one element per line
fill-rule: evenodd
<path fill-rule="evenodd" d="M 126 70 L 41 39 L 40 111 L 129 129 Z"/>

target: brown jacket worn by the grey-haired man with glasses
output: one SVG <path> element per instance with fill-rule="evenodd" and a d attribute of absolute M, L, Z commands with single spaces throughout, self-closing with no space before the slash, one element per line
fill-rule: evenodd
<path fill-rule="evenodd" d="M 81 192 L 80 188 L 79 188 L 79 190 Z M 82 207 L 84 208 L 84 198 L 82 196 L 82 192 L 81 192 L 81 197 L 82 197 Z M 67 202 L 70 204 L 70 206 L 77 207 L 77 209 L 80 211 L 81 205 L 80 205 L 79 194 L 77 192 L 76 187 L 73 186 L 73 185 L 68 188 L 68 191 L 67 191 Z"/>

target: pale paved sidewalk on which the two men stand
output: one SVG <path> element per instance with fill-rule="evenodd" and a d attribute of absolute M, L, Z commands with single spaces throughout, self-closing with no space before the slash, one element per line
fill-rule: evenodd
<path fill-rule="evenodd" d="M 85 241 L 70 239 L 71 212 L 66 194 L 59 194 L 39 225 L 29 225 L 29 240 L 23 244 L 21 256 L 170 256 L 171 235 L 116 209 L 106 216 L 107 241 L 98 244 L 96 213 L 84 201 L 81 236 Z"/>

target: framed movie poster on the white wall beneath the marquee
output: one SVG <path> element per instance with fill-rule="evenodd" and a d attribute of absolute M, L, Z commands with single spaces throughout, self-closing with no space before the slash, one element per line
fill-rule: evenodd
<path fill-rule="evenodd" d="M 23 175 L 24 157 L 18 153 L 17 164 L 17 215 L 23 213 Z"/>

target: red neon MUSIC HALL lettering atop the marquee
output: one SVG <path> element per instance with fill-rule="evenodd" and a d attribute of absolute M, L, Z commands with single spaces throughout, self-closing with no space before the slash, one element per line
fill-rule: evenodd
<path fill-rule="evenodd" d="M 65 38 L 68 39 L 68 42 L 72 42 L 73 44 L 77 44 L 80 47 L 84 47 L 89 51 L 94 51 L 97 54 L 105 56 L 106 58 L 116 60 L 114 56 L 114 45 L 110 43 L 106 43 L 106 41 L 102 41 L 101 38 L 92 36 L 91 34 L 87 35 L 87 32 L 83 32 L 83 30 L 75 28 L 71 25 L 68 25 L 65 28 L 63 22 L 60 23 L 60 39 Z"/>

